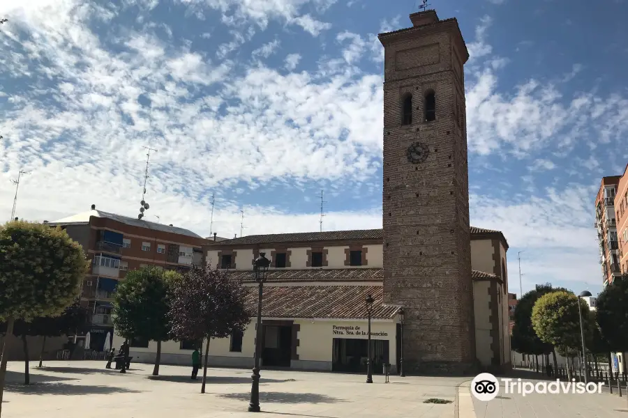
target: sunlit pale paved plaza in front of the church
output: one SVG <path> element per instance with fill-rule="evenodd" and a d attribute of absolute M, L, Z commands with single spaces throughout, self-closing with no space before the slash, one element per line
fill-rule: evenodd
<path fill-rule="evenodd" d="M 105 362 L 31 362 L 32 385 L 24 386 L 24 364 L 8 364 L 3 417 L 7 418 L 206 418 L 251 417 L 246 412 L 251 371 L 208 369 L 206 394 L 191 367 L 132 364 L 126 374 L 106 370 Z M 202 371 L 199 373 L 202 374 Z M 263 417 L 426 417 L 456 416 L 458 385 L 467 378 L 400 378 L 338 373 L 262 371 Z M 452 401 L 424 403 L 428 398 Z"/>

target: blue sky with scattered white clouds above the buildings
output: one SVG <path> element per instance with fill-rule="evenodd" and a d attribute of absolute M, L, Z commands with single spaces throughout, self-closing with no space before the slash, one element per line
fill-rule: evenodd
<path fill-rule="evenodd" d="M 598 293 L 595 194 L 628 162 L 628 0 L 430 3 L 458 19 L 470 52 L 471 223 L 507 238 L 509 291 L 520 293 L 521 256 L 524 293 L 546 282 Z M 20 218 L 91 204 L 136 217 L 151 147 L 149 221 L 227 238 L 318 231 L 324 201 L 325 231 L 381 228 L 377 33 L 417 10 L 0 1 L 0 217 L 20 170 Z"/>

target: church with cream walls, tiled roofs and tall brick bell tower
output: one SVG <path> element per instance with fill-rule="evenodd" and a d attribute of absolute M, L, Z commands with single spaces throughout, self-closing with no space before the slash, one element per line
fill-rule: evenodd
<path fill-rule="evenodd" d="M 379 36 L 383 229 L 250 235 L 203 247 L 204 263 L 246 286 L 257 286 L 255 258 L 271 261 L 262 368 L 366 371 L 369 311 L 375 372 L 384 363 L 398 372 L 402 357 L 405 373 L 511 367 L 508 244 L 500 231 L 469 224 L 468 50 L 455 18 L 426 10 L 410 20 Z M 256 311 L 257 292 L 248 307 Z M 195 343 L 163 343 L 162 361 L 190 364 Z M 154 361 L 155 350 L 153 341 L 131 343 L 134 361 Z M 252 318 L 243 334 L 211 342 L 210 364 L 252 367 L 254 350 Z"/>

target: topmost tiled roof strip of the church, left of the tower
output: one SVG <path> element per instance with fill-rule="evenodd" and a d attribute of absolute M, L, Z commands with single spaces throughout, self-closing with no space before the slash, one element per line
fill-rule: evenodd
<path fill-rule="evenodd" d="M 382 239 L 382 229 L 354 229 L 352 231 L 324 231 L 299 233 L 274 233 L 269 235 L 248 235 L 221 242 L 223 245 L 251 245 L 276 242 L 334 241 Z"/>

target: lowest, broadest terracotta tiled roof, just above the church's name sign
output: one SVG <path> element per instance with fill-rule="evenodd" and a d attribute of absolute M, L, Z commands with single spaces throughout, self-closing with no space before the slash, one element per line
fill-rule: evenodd
<path fill-rule="evenodd" d="M 367 295 L 372 295 L 371 318 L 392 319 L 397 307 L 384 307 L 382 286 L 267 286 L 262 299 L 266 318 L 366 319 Z M 257 292 L 248 293 L 246 307 L 257 311 Z"/>

